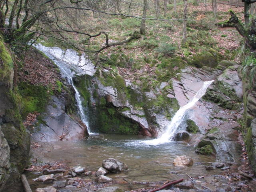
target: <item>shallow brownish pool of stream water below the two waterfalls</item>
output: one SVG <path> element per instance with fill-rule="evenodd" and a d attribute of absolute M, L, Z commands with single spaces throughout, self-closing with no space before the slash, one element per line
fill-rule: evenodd
<path fill-rule="evenodd" d="M 93 134 L 84 140 L 48 142 L 44 147 L 49 161 L 67 166 L 84 166 L 90 171 L 97 171 L 105 158 L 123 161 L 128 165 L 128 172 L 107 176 L 114 179 L 114 186 L 120 186 L 126 191 L 148 186 L 148 182 L 188 178 L 186 174 L 191 177 L 209 174 L 205 167 L 211 164 L 213 158 L 196 154 L 188 144 L 168 142 L 148 145 L 143 142 L 146 140 L 149 138 L 134 135 Z M 174 158 L 180 155 L 190 156 L 194 160 L 194 165 L 173 166 Z M 210 174 L 220 174 L 220 170 L 211 170 Z M 47 185 L 42 186 L 41 182 L 34 182 L 32 179 L 38 177 L 36 175 L 29 174 L 27 177 L 34 189 Z M 124 184 L 124 178 L 130 182 L 140 183 Z"/>

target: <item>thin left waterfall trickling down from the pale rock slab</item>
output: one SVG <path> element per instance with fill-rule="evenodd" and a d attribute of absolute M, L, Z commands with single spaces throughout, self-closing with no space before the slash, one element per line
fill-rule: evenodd
<path fill-rule="evenodd" d="M 50 47 L 46 47 L 43 46 L 41 44 L 36 45 L 36 48 L 42 52 L 44 52 L 44 54 L 46 54 L 46 56 L 48 56 L 52 61 L 54 61 L 54 63 L 59 67 L 60 72 L 62 73 L 62 76 L 66 77 L 68 79 L 68 83 L 72 85 L 72 87 L 74 88 L 76 94 L 75 94 L 75 98 L 76 98 L 76 103 L 78 106 L 78 114 L 80 115 L 80 118 L 82 120 L 82 122 L 84 124 L 86 124 L 87 126 L 87 130 L 88 133 L 91 134 L 90 132 L 90 128 L 89 128 L 89 123 L 88 120 L 86 118 L 86 115 L 84 113 L 84 108 L 82 106 L 82 101 L 80 99 L 80 94 L 78 92 L 78 90 L 76 89 L 76 87 L 73 84 L 73 79 L 72 76 L 74 75 L 74 71 L 70 70 L 69 66 L 67 65 L 67 61 L 64 60 L 63 61 L 63 50 L 61 50 L 60 48 L 50 48 Z M 73 53 L 74 56 L 74 53 Z M 74 69 L 74 68 L 73 68 Z"/>

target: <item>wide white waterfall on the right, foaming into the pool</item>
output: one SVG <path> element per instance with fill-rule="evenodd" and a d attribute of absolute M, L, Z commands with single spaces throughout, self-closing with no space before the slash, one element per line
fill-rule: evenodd
<path fill-rule="evenodd" d="M 156 138 L 154 140 L 147 140 L 147 141 L 143 141 L 146 144 L 152 144 L 152 145 L 156 145 L 156 144 L 163 144 L 166 142 L 170 142 L 172 141 L 172 139 L 174 138 L 176 131 L 178 129 L 178 126 L 180 125 L 180 123 L 182 122 L 182 120 L 184 119 L 185 113 L 188 109 L 190 109 L 192 106 L 194 106 L 194 104 L 202 97 L 204 96 L 208 86 L 210 86 L 210 84 L 213 82 L 212 81 L 206 81 L 204 82 L 202 88 L 196 93 L 196 95 L 191 98 L 188 102 L 188 104 L 186 104 L 185 106 L 180 107 L 180 109 L 176 112 L 176 114 L 173 116 L 172 121 L 170 122 L 170 124 L 167 126 L 165 132 L 159 137 Z"/>

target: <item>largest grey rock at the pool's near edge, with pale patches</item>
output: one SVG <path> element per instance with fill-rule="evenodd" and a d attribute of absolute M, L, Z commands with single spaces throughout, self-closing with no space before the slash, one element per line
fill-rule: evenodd
<path fill-rule="evenodd" d="M 102 162 L 102 167 L 112 173 L 119 173 L 128 169 L 128 166 L 124 164 L 124 162 L 113 158 L 104 159 Z"/>

